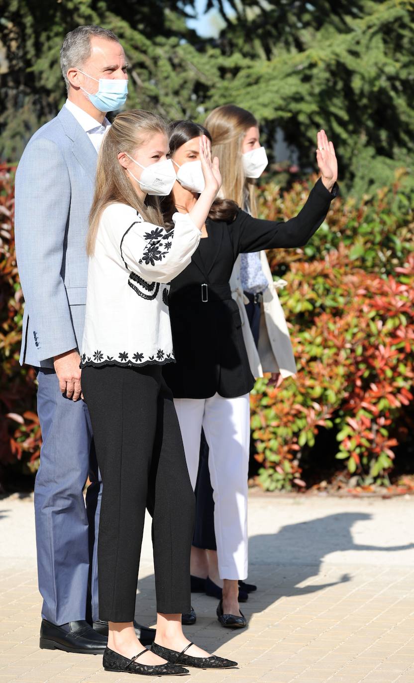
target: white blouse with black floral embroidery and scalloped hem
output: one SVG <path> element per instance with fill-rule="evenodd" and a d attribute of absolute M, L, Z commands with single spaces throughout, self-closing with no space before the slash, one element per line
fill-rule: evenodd
<path fill-rule="evenodd" d="M 169 231 L 126 204 L 102 212 L 89 258 L 81 367 L 174 361 L 169 281 L 186 268 L 200 231 L 188 214 Z"/>

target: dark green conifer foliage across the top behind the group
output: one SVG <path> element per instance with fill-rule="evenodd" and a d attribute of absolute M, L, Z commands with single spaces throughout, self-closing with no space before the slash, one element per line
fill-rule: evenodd
<path fill-rule="evenodd" d="M 0 20 L 9 68 L 0 74 L 0 155 L 16 161 L 31 133 L 64 102 L 59 48 L 67 31 L 113 29 L 130 62 L 129 107 L 204 120 L 225 102 L 251 109 L 273 148 L 275 131 L 314 165 L 325 127 L 342 190 L 361 199 L 414 158 L 414 0 L 208 0 L 227 21 L 218 40 L 186 23 L 178 1 L 10 0 Z M 284 161 L 284 160 L 277 160 Z M 412 173 L 404 177 L 407 191 Z"/>

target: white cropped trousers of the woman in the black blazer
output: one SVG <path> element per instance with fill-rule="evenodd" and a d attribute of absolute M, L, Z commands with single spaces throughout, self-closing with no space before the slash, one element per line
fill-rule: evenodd
<path fill-rule="evenodd" d="M 176 398 L 191 484 L 195 488 L 202 428 L 208 443 L 217 560 L 221 579 L 247 578 L 249 394 L 237 398 Z"/>

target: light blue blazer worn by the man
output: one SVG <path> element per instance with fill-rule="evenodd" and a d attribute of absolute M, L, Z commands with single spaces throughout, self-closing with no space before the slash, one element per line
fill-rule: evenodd
<path fill-rule="evenodd" d="M 53 367 L 80 348 L 97 154 L 66 107 L 31 137 L 16 171 L 15 238 L 25 297 L 20 363 Z"/>

